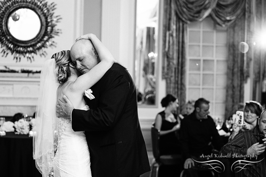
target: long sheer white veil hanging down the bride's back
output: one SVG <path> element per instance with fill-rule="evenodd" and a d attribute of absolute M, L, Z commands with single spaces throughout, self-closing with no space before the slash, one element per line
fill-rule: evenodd
<path fill-rule="evenodd" d="M 36 108 L 33 158 L 44 177 L 53 176 L 56 139 L 57 71 L 55 59 L 44 63 L 40 74 L 40 92 Z"/>

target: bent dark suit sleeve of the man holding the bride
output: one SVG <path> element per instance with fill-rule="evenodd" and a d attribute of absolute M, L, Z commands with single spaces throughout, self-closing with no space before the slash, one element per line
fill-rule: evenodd
<path fill-rule="evenodd" d="M 99 106 L 88 111 L 72 111 L 74 131 L 103 131 L 111 129 L 123 114 L 130 95 L 130 85 L 126 77 L 117 71 L 108 74 L 101 88 Z"/>

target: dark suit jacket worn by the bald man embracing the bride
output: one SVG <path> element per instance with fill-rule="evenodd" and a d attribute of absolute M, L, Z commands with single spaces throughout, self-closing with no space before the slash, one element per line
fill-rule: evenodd
<path fill-rule="evenodd" d="M 137 92 L 126 69 L 113 66 L 91 87 L 90 110 L 72 111 L 72 129 L 85 131 L 93 177 L 135 177 L 150 171 L 140 129 Z"/>

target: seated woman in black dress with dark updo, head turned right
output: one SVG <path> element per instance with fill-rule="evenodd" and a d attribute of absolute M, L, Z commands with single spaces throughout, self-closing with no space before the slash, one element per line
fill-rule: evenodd
<path fill-rule="evenodd" d="M 155 119 L 155 128 L 160 130 L 160 153 L 161 155 L 178 154 L 180 146 L 175 131 L 179 130 L 177 115 L 173 112 L 179 107 L 178 99 L 171 94 L 166 95 L 161 101 L 165 110 L 158 113 Z"/>

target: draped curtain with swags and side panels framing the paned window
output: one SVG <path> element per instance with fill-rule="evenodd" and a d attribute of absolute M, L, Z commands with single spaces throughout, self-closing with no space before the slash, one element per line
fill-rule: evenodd
<path fill-rule="evenodd" d="M 247 0 L 250 3 L 250 0 Z M 165 0 L 163 23 L 163 78 L 166 79 L 166 92 L 179 98 L 181 110 L 186 100 L 186 30 L 187 23 L 202 21 L 211 16 L 215 23 L 221 26 L 229 26 L 229 36 L 237 31 L 245 34 L 246 0 Z M 244 21 L 243 21 L 244 19 Z M 234 22 L 238 20 L 237 23 Z M 228 38 L 229 39 L 229 38 Z M 234 77 L 228 77 L 226 105 L 243 102 L 244 79 L 243 66 L 246 64 L 246 56 L 240 54 L 238 44 L 244 41 L 244 36 L 234 36 L 229 39 L 228 45 L 228 76 L 238 73 Z M 229 61 L 231 60 L 231 61 Z M 234 67 L 230 65 L 234 63 Z M 239 68 L 236 69 L 236 68 Z M 247 69 L 248 71 L 248 69 Z M 230 83 L 230 84 L 229 84 Z M 226 106 L 228 114 L 232 112 L 232 106 Z"/>

